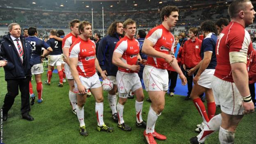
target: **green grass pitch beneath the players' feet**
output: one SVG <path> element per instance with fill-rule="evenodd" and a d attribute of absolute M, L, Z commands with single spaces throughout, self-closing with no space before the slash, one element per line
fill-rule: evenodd
<path fill-rule="evenodd" d="M 0 68 L 0 106 L 2 107 L 7 92 L 4 70 Z M 34 78 L 34 77 L 33 77 Z M 114 127 L 112 133 L 98 132 L 95 114 L 94 97 L 87 98 L 85 103 L 85 125 L 89 135 L 79 134 L 79 122 L 71 111 L 69 104 L 69 85 L 57 87 L 58 75 L 53 73 L 51 85 L 43 85 L 43 102 L 31 106 L 30 114 L 34 121 L 21 118 L 21 97 L 16 97 L 14 105 L 8 112 L 8 120 L 3 122 L 3 142 L 5 144 L 146 144 L 142 128 L 135 127 L 135 99 L 128 99 L 124 107 L 124 120 L 132 127 L 126 132 L 117 127 L 112 121 L 112 113 L 104 91 L 104 122 Z M 42 81 L 46 80 L 46 72 L 42 74 Z M 32 81 L 34 93 L 36 82 Z M 184 87 L 187 90 L 187 87 Z M 144 91 L 145 99 L 148 97 Z M 156 140 L 158 144 L 189 144 L 189 139 L 196 136 L 196 125 L 202 119 L 192 101 L 184 101 L 183 96 L 165 96 L 165 110 L 163 110 L 155 125 L 155 130 L 167 136 L 165 141 Z M 37 100 L 37 99 L 36 99 Z M 206 102 L 205 102 L 206 104 Z M 147 119 L 150 103 L 144 101 L 144 120 Z M 217 108 L 216 114 L 220 109 Z M 206 144 L 219 144 L 218 133 L 211 135 Z M 235 133 L 235 144 L 256 144 L 256 113 L 246 115 Z"/>

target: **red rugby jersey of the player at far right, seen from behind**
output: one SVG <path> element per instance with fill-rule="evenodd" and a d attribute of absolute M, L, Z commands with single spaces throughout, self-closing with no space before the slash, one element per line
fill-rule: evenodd
<path fill-rule="evenodd" d="M 214 75 L 222 80 L 234 82 L 232 78 L 230 52 L 251 53 L 253 50 L 251 38 L 245 27 L 236 22 L 230 22 L 219 34 L 216 45 L 217 66 Z"/>

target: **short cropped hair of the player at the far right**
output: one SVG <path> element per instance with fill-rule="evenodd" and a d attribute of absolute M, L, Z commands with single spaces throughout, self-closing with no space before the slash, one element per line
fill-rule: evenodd
<path fill-rule="evenodd" d="M 250 0 L 234 0 L 230 5 L 228 9 L 229 17 L 235 18 L 238 16 L 239 11 L 245 10 L 245 3 L 251 2 Z"/>

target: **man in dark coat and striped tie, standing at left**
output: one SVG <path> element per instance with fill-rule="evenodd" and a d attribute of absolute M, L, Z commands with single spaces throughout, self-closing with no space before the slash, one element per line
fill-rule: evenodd
<path fill-rule="evenodd" d="M 8 111 L 14 104 L 14 98 L 21 91 L 21 114 L 23 119 L 33 121 L 30 116 L 30 94 L 29 81 L 31 78 L 31 67 L 33 66 L 32 48 L 21 36 L 21 27 L 18 23 L 8 26 L 10 34 L 0 40 L 0 60 L 7 61 L 4 66 L 5 80 L 7 81 L 7 94 L 2 106 L 3 121 L 7 121 Z"/>

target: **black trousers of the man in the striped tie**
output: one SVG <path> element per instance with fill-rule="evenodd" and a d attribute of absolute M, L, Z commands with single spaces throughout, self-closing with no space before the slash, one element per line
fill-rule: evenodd
<path fill-rule="evenodd" d="M 30 76 L 7 80 L 7 94 L 5 95 L 4 105 L 2 106 L 3 114 L 7 114 L 14 104 L 14 99 L 18 95 L 18 89 L 21 91 L 21 114 L 30 112 L 30 94 L 29 81 Z"/>

